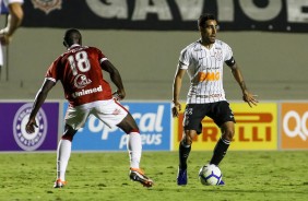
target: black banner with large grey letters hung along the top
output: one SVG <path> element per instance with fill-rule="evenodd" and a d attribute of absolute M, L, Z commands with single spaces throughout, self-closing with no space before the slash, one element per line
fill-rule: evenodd
<path fill-rule="evenodd" d="M 28 0 L 25 27 L 196 31 L 201 13 L 222 31 L 308 32 L 306 0 Z"/>

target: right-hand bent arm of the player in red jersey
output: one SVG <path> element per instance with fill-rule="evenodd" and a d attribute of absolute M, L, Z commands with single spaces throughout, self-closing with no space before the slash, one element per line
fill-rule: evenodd
<path fill-rule="evenodd" d="M 118 69 L 108 60 L 103 61 L 100 67 L 110 74 L 110 80 L 118 87 L 116 94 L 114 95 L 116 95 L 119 99 L 123 99 L 126 97 L 126 91 Z"/>

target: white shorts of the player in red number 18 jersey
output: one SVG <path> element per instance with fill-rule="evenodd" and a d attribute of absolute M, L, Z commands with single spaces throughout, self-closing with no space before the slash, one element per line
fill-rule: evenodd
<path fill-rule="evenodd" d="M 97 100 L 76 107 L 69 107 L 66 114 L 66 123 L 74 130 L 84 127 L 90 115 L 94 115 L 108 127 L 120 123 L 128 115 L 128 110 L 117 100 Z"/>

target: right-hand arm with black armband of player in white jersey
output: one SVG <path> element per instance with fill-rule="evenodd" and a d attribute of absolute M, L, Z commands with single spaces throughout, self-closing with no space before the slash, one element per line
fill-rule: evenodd
<path fill-rule="evenodd" d="M 246 83 L 244 81 L 242 73 L 238 64 L 235 62 L 234 58 L 232 57 L 229 60 L 227 60 L 226 64 L 230 68 L 233 76 L 235 78 L 235 80 L 237 81 L 237 83 L 241 88 L 242 99 L 247 102 L 250 107 L 252 107 L 252 105 L 257 105 L 258 103 L 258 100 L 256 99 L 257 95 L 253 95 L 248 91 Z"/>

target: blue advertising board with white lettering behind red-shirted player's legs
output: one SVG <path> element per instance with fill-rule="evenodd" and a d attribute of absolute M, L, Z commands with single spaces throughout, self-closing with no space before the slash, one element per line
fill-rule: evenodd
<path fill-rule="evenodd" d="M 170 150 L 169 103 L 121 103 L 131 113 L 140 129 L 142 150 Z M 63 116 L 68 108 L 64 103 Z M 73 151 L 126 151 L 128 135 L 119 128 L 109 128 L 90 116 L 74 137 Z"/>

